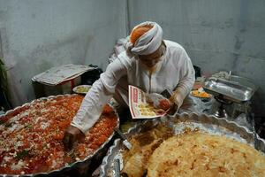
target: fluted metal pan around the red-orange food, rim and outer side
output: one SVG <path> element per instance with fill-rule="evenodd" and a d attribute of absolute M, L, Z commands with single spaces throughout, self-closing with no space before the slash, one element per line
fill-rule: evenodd
<path fill-rule="evenodd" d="M 73 94 L 73 95 L 77 95 L 77 94 Z M 60 96 L 72 96 L 70 94 L 66 94 L 66 95 L 58 95 L 58 96 L 48 96 L 48 97 L 42 97 L 39 99 L 36 99 L 34 101 L 32 101 L 31 103 L 27 103 L 27 104 L 23 104 L 21 106 L 16 107 L 13 110 L 10 110 L 8 112 L 6 112 L 4 115 L 0 116 L 0 119 L 3 118 L 5 115 L 10 114 L 12 112 L 15 112 L 16 110 L 25 107 L 29 104 L 33 104 L 36 101 L 39 100 L 48 100 L 50 98 L 56 98 L 56 97 L 60 97 Z M 111 105 L 110 105 L 111 106 Z M 116 109 L 111 106 L 117 116 L 117 127 L 119 127 L 119 117 L 117 114 Z M 113 143 L 114 139 L 113 136 L 115 135 L 115 132 L 113 132 L 110 137 L 107 139 L 106 142 L 102 143 L 102 145 L 95 150 L 95 152 L 93 154 L 88 155 L 86 158 L 75 161 L 74 163 L 72 163 L 71 165 L 64 165 L 64 167 L 59 168 L 57 170 L 53 170 L 53 171 L 49 171 L 47 173 L 32 173 L 32 174 L 25 174 L 25 175 L 21 175 L 21 174 L 1 174 L 0 173 L 0 177 L 19 177 L 19 176 L 86 176 L 86 175 L 91 175 L 90 173 L 93 172 L 89 172 L 87 174 L 87 171 L 90 169 L 94 169 L 100 165 L 100 164 L 96 164 L 95 162 L 101 161 L 102 158 L 104 157 L 104 154 L 107 152 L 107 150 L 110 148 L 110 145 Z"/>

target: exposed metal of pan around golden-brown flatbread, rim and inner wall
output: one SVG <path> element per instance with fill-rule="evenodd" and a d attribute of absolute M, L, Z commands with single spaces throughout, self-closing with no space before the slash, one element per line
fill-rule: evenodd
<path fill-rule="evenodd" d="M 159 123 L 166 123 L 169 127 L 172 127 L 174 133 L 182 133 L 186 127 L 192 130 L 199 127 L 200 130 L 207 132 L 211 135 L 226 135 L 227 137 L 233 138 L 239 142 L 247 143 L 254 146 L 256 150 L 261 150 L 265 153 L 265 141 L 258 135 L 254 135 L 253 132 L 249 131 L 246 127 L 239 126 L 236 122 L 229 121 L 223 118 L 216 118 L 215 116 L 208 116 L 206 114 L 196 113 L 182 113 L 175 117 L 166 116 L 161 119 L 148 119 L 144 122 L 140 122 L 128 130 L 127 136 L 137 135 L 142 129 L 146 127 L 154 127 Z M 107 156 L 103 158 L 102 165 L 100 168 L 101 177 L 112 177 L 115 176 L 114 171 L 114 160 L 119 159 L 120 166 L 123 166 L 123 158 L 121 150 L 124 148 L 123 143 L 120 139 L 114 142 L 107 153 Z"/>

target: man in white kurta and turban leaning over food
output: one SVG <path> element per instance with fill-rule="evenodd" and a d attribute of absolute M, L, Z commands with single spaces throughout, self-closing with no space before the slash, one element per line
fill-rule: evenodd
<path fill-rule="evenodd" d="M 73 142 L 93 127 L 112 96 L 118 103 L 128 105 L 128 84 L 148 93 L 169 89 L 173 92 L 170 101 L 178 107 L 193 88 L 194 69 L 186 50 L 176 42 L 163 40 L 163 30 L 155 22 L 134 27 L 126 49 L 85 96 L 64 134 L 66 149 L 71 149 Z M 126 87 L 121 87 L 121 81 Z"/>

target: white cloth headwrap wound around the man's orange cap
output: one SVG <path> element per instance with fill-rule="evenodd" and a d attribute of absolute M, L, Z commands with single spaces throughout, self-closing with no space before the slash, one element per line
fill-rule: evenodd
<path fill-rule="evenodd" d="M 163 30 L 157 23 L 146 21 L 140 23 L 136 27 L 140 26 L 153 26 L 147 33 L 141 35 L 140 38 L 134 43 L 128 42 L 126 44 L 127 51 L 132 53 L 133 55 L 148 55 L 159 48 L 161 42 L 163 40 Z M 136 28 L 133 27 L 133 30 Z M 133 32 L 133 31 L 132 31 Z"/>

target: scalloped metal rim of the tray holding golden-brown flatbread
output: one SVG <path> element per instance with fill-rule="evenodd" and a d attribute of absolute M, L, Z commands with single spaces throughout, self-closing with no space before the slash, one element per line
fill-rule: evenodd
<path fill-rule="evenodd" d="M 164 120 L 162 120 L 164 119 Z M 173 116 L 165 116 L 161 119 L 147 119 L 143 122 L 137 123 L 134 127 L 129 128 L 129 130 L 127 131 L 127 133 L 125 133 L 125 135 L 130 135 L 132 134 L 132 132 L 139 132 L 141 127 L 144 127 L 148 122 L 152 122 L 153 124 L 155 124 L 155 122 L 166 122 L 166 121 L 173 121 L 177 120 L 179 122 L 196 122 L 196 123 L 204 123 L 204 124 L 209 124 L 209 126 L 220 126 L 222 128 L 225 128 L 229 131 L 231 131 L 231 133 L 235 133 L 235 134 L 239 134 L 239 132 L 241 132 L 241 135 L 245 135 L 245 137 L 241 137 L 242 139 L 246 140 L 246 142 L 249 144 L 251 143 L 254 146 L 256 150 L 261 150 L 261 152 L 264 154 L 265 153 L 265 140 L 261 139 L 261 137 L 259 135 L 254 135 L 254 132 L 250 131 L 248 128 L 240 126 L 238 123 L 228 120 L 228 119 L 224 119 L 224 118 L 217 118 L 214 115 L 207 115 L 204 113 L 198 114 L 195 112 L 192 113 L 181 113 L 181 114 L 177 114 L 176 117 Z M 209 123 L 211 122 L 211 123 Z M 234 128 L 235 131 L 232 131 L 231 129 Z M 112 159 L 111 155 L 113 155 L 114 153 L 117 152 L 117 150 L 120 150 L 120 144 L 121 144 L 121 140 L 120 139 L 116 139 L 115 142 L 113 143 L 112 146 L 110 146 L 110 149 L 107 152 L 107 155 L 103 158 L 102 160 L 102 165 L 100 166 L 100 177 L 105 177 L 108 176 L 108 169 L 109 169 L 109 165 L 111 164 Z"/>

